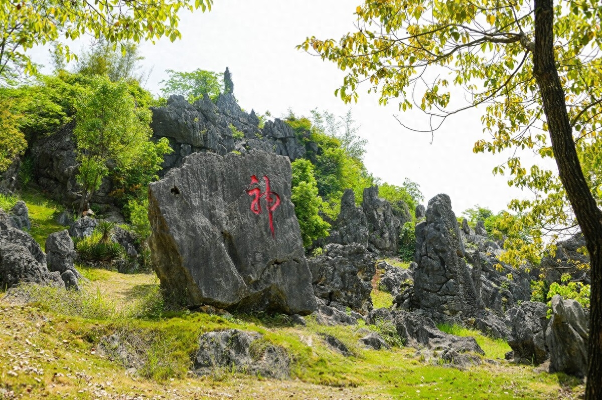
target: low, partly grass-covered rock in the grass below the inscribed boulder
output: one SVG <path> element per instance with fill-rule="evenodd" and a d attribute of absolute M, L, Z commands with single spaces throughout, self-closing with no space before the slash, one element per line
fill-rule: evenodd
<path fill-rule="evenodd" d="M 290 371 L 290 357 L 283 348 L 258 345 L 262 335 L 254 331 L 229 329 L 209 332 L 199 337 L 194 355 L 194 369 L 209 374 L 215 368 L 235 369 L 250 375 L 285 378 Z"/>

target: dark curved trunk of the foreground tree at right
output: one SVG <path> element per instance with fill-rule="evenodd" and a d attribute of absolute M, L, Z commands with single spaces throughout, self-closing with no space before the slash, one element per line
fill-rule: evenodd
<path fill-rule="evenodd" d="M 554 57 L 553 0 L 535 0 L 533 75 L 544 113 L 560 180 L 579 222 L 591 258 L 591 313 L 586 400 L 602 398 L 602 211 L 596 205 L 577 157 L 565 92 Z"/>

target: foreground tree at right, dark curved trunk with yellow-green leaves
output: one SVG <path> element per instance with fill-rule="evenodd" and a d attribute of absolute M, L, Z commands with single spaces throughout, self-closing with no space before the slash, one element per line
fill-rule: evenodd
<path fill-rule="evenodd" d="M 536 192 L 533 201 L 511 204 L 529 211 L 526 223 L 554 229 L 570 226 L 573 217 L 579 223 L 592 280 L 586 398 L 601 398 L 602 5 L 366 0 L 356 14 L 355 32 L 340 40 L 311 37 L 299 46 L 349 71 L 335 91 L 343 100 L 357 100 L 365 83 L 380 94 L 380 103 L 399 99 L 403 111 L 423 109 L 432 129 L 451 114 L 482 105 L 491 137 L 478 141 L 475 152 L 521 147 L 556 159 L 557 174 L 527 171 L 514 155 L 495 172 L 507 171 L 511 184 Z M 452 100 L 452 85 L 464 88 L 467 104 Z"/>

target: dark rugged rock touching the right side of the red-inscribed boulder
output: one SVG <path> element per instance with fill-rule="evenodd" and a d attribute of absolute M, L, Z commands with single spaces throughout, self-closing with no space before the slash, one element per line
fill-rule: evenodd
<path fill-rule="evenodd" d="M 367 314 L 372 309 L 374 257 L 359 244 L 328 244 L 309 260 L 315 297 L 327 306 Z"/>

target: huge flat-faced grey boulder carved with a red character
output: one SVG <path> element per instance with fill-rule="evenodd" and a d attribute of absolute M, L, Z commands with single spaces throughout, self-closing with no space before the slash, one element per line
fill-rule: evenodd
<path fill-rule="evenodd" d="M 170 301 L 307 315 L 311 274 L 287 158 L 193 153 L 149 185 L 149 245 Z"/>

